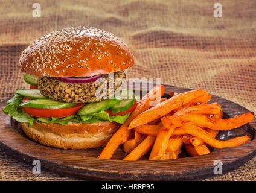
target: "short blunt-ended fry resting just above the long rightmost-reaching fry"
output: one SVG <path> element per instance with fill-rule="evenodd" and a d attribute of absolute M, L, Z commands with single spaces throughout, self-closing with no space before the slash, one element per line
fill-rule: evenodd
<path fill-rule="evenodd" d="M 219 104 L 199 104 L 196 106 L 185 107 L 178 110 L 173 116 L 187 115 L 188 113 L 192 114 L 207 114 L 207 115 L 216 115 L 220 112 L 221 108 Z"/>

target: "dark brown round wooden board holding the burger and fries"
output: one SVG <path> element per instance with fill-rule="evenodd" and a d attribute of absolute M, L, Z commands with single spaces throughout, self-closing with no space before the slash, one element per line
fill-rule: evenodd
<path fill-rule="evenodd" d="M 187 92 L 165 85 L 165 97 L 168 92 Z M 138 90 L 137 90 L 138 91 Z M 213 96 L 211 102 L 219 103 L 226 118 L 248 112 L 244 107 L 223 98 Z M 0 104 L 0 109 L 5 106 Z M 217 138 L 226 140 L 235 136 L 247 134 L 252 141 L 238 147 L 212 149 L 212 153 L 204 156 L 190 157 L 188 154 L 179 155 L 176 160 L 148 161 L 146 157 L 136 162 L 123 161 L 126 153 L 123 147 L 115 151 L 111 160 L 97 159 L 103 148 L 91 150 L 60 150 L 46 147 L 31 141 L 21 130 L 20 124 L 10 116 L 0 112 L 0 148 L 10 156 L 32 166 L 33 160 L 40 160 L 42 169 L 56 172 L 65 176 L 86 180 L 199 180 L 213 177 L 214 161 L 222 162 L 222 173 L 252 159 L 256 154 L 256 119 L 230 131 L 221 131 Z"/>

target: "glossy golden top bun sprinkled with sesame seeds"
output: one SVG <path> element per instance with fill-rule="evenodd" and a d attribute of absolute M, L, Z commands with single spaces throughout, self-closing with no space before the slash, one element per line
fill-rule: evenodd
<path fill-rule="evenodd" d="M 133 55 L 122 40 L 92 27 L 46 34 L 28 46 L 19 60 L 21 72 L 37 77 L 92 77 L 133 65 Z"/>

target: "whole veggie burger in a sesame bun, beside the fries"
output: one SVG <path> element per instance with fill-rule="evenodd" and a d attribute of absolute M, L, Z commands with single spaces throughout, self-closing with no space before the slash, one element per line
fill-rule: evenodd
<path fill-rule="evenodd" d="M 22 52 L 19 68 L 30 89 L 16 90 L 3 111 L 40 144 L 63 149 L 104 146 L 136 107 L 133 91 L 121 89 L 124 81 L 117 81 L 133 64 L 127 45 L 107 31 L 54 31 Z"/>

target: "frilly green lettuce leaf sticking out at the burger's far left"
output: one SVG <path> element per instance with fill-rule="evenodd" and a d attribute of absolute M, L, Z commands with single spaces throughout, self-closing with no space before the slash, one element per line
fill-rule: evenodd
<path fill-rule="evenodd" d="M 6 106 L 2 111 L 5 115 L 10 115 L 13 119 L 18 122 L 27 122 L 28 127 L 33 125 L 34 117 L 24 112 L 23 108 L 19 106 L 22 103 L 22 96 L 15 95 L 13 98 L 7 101 Z"/>

